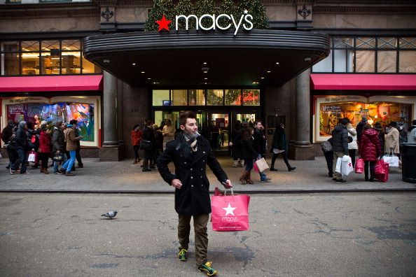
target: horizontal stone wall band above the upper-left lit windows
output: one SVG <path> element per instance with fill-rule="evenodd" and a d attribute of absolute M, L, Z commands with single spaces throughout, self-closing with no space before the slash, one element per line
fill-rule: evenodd
<path fill-rule="evenodd" d="M 88 31 L 99 29 L 99 17 L 65 17 L 0 20 L 0 32 Z"/>

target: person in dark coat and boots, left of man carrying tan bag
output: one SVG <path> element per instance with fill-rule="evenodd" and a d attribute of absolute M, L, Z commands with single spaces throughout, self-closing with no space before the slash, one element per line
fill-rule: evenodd
<path fill-rule="evenodd" d="M 251 169 L 254 166 L 254 160 L 258 156 L 258 152 L 254 150 L 254 129 L 251 127 L 244 128 L 242 130 L 242 139 L 240 140 L 240 148 L 242 149 L 242 157 L 244 159 L 245 168 L 240 176 L 240 184 L 253 184 L 251 180 Z"/>

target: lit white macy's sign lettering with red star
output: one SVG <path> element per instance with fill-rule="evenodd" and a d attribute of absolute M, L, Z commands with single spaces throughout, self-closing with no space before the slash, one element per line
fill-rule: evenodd
<path fill-rule="evenodd" d="M 204 20 L 205 18 L 207 18 L 208 20 Z M 219 24 L 219 21 L 221 20 L 221 18 L 225 18 L 228 21 L 232 21 L 233 23 L 228 24 L 227 26 L 221 26 L 221 24 Z M 237 18 L 238 19 L 238 18 Z M 189 22 L 190 20 L 195 20 L 195 29 L 202 29 L 204 31 L 211 31 L 211 30 L 215 30 L 215 29 L 220 29 L 220 30 L 228 30 L 230 28 L 234 28 L 235 32 L 234 32 L 234 36 L 237 34 L 237 31 L 242 27 L 243 29 L 245 29 L 246 31 L 250 31 L 251 29 L 253 29 L 253 22 L 251 20 L 253 20 L 253 16 L 250 15 L 248 13 L 247 10 L 244 10 L 244 14 L 241 15 L 240 20 L 236 20 L 236 18 L 234 17 L 234 15 L 226 15 L 226 14 L 221 14 L 221 15 L 202 15 L 201 17 L 197 17 L 196 15 L 176 15 L 175 17 L 175 23 L 176 23 L 176 31 L 178 31 L 178 25 L 180 20 L 185 20 L 185 29 L 188 31 L 189 29 Z M 203 23 L 204 20 L 204 24 Z M 163 29 L 169 31 L 169 24 L 172 22 L 172 20 L 167 20 L 165 15 L 163 15 L 162 20 L 156 20 L 156 23 L 159 24 L 159 30 L 158 31 L 162 31 Z M 209 23 L 207 23 L 209 22 Z"/>

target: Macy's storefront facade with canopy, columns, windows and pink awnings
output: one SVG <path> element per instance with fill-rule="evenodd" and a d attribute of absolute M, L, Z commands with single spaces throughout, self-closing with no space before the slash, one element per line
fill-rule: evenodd
<path fill-rule="evenodd" d="M 53 116 L 79 104 L 80 116 L 87 118 L 87 107 L 93 111 L 94 139 L 84 147 L 111 160 L 132 156 L 133 125 L 146 118 L 177 125 L 179 113 L 190 110 L 218 153 L 227 155 L 236 120 L 260 119 L 269 142 L 283 122 L 291 157 L 313 159 L 337 118 L 356 123 L 365 115 L 385 124 L 415 119 L 413 1 L 263 4 L 268 30 L 146 32 L 152 1 L 4 3 L 0 87 L 1 78 L 10 76 L 104 74 L 102 90 L 2 90 L 1 127 L 21 116 L 19 109 L 35 111 L 34 104 Z M 71 13 L 74 7 L 78 13 Z M 71 46 L 74 38 L 81 41 L 78 48 Z M 408 76 L 408 85 L 345 87 L 348 76 L 367 76 L 364 83 L 372 76 L 390 76 L 389 83 Z M 18 103 L 23 107 L 13 106 Z"/>

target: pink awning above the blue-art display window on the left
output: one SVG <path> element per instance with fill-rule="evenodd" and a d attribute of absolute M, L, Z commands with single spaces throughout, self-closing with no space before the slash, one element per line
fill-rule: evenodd
<path fill-rule="evenodd" d="M 102 90 L 102 75 L 0 77 L 0 92 Z"/>

